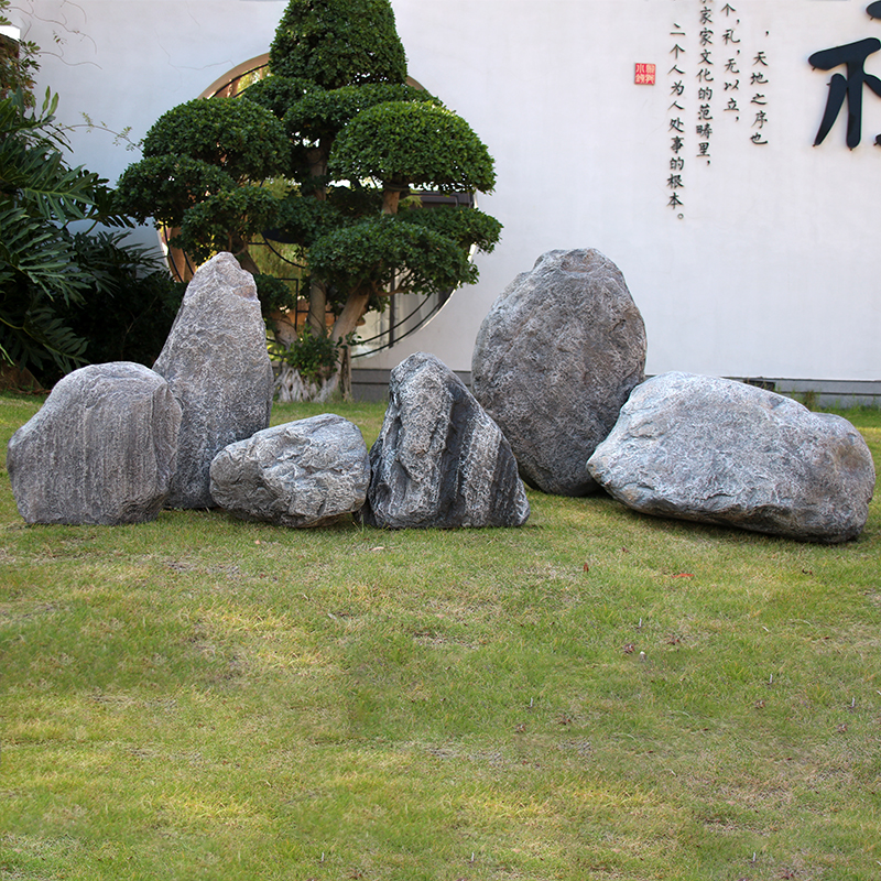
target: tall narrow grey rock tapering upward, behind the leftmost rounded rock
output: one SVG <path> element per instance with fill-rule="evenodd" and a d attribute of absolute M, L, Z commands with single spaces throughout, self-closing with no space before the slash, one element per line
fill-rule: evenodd
<path fill-rule="evenodd" d="M 184 414 L 170 508 L 209 508 L 208 470 L 228 444 L 269 425 L 272 367 L 253 276 L 220 253 L 189 282 L 153 369 Z"/>

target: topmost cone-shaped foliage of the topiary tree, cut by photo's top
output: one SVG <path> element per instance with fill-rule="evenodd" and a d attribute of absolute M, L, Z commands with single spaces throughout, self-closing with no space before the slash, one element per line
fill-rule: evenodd
<path fill-rule="evenodd" d="M 406 56 L 389 0 L 291 0 L 270 50 L 274 76 L 323 89 L 403 83 Z"/>

